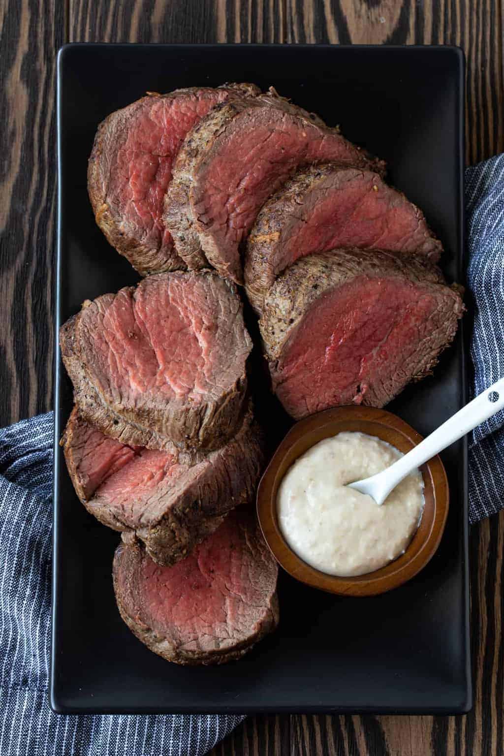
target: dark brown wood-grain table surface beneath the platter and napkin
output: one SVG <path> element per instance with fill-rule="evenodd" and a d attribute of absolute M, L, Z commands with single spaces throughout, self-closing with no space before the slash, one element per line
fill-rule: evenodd
<path fill-rule="evenodd" d="M 460 45 L 468 68 L 467 161 L 475 163 L 504 149 L 501 5 L 501 0 L 0 0 L 0 423 L 47 411 L 52 402 L 54 69 L 60 45 Z M 213 756 L 504 754 L 503 541 L 504 513 L 472 528 L 471 714 L 249 717 Z"/>

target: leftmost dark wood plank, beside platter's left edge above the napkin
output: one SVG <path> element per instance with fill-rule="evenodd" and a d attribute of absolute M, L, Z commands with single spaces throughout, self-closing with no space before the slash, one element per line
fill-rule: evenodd
<path fill-rule="evenodd" d="M 47 411 L 52 395 L 57 0 L 0 5 L 0 422 Z"/>

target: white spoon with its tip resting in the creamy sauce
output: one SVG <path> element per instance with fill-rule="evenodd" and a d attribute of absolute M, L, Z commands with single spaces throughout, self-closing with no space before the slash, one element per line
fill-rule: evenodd
<path fill-rule="evenodd" d="M 392 489 L 416 467 L 458 441 L 462 435 L 484 423 L 503 407 L 504 378 L 501 378 L 424 438 L 419 445 L 404 454 L 404 457 L 400 457 L 400 460 L 370 478 L 348 483 L 348 488 L 355 488 L 361 494 L 367 494 L 381 506 Z"/>

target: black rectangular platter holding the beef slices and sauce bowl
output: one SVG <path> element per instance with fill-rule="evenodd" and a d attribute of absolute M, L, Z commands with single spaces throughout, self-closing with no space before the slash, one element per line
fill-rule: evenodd
<path fill-rule="evenodd" d="M 456 48 L 311 45 L 68 45 L 58 57 L 57 327 L 82 301 L 138 280 L 94 223 L 86 166 L 97 124 L 146 90 L 226 81 L 274 85 L 384 158 L 418 203 L 463 283 L 464 61 Z M 466 401 L 463 333 L 434 376 L 390 409 L 427 434 Z M 240 662 L 184 668 L 147 650 L 119 617 L 111 564 L 118 534 L 74 494 L 57 445 L 72 406 L 56 352 L 51 706 L 100 713 L 468 711 L 465 441 L 443 455 L 450 515 L 413 581 L 376 598 L 329 596 L 280 576 L 280 627 Z M 264 397 L 264 406 L 271 399 Z M 267 412 L 271 433 L 282 416 Z"/>

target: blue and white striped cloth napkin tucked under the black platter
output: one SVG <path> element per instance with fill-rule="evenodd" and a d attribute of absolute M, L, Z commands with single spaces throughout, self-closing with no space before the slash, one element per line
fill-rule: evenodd
<path fill-rule="evenodd" d="M 504 156 L 466 172 L 475 392 L 504 368 Z M 0 756 L 197 756 L 243 717 L 64 716 L 48 705 L 52 413 L 0 431 Z M 504 414 L 472 434 L 470 519 L 504 506 Z"/>

